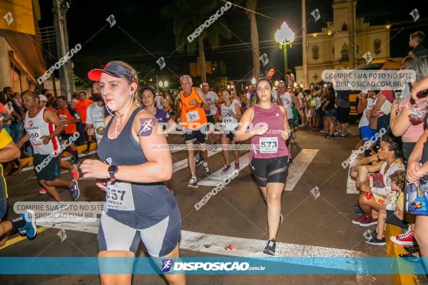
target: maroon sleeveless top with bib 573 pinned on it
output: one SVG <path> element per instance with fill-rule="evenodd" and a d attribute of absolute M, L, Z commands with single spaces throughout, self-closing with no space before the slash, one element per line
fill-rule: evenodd
<path fill-rule="evenodd" d="M 254 110 L 252 127 L 259 127 L 260 123 L 266 123 L 268 129 L 263 135 L 251 137 L 250 160 L 288 155 L 285 140 L 280 135 L 284 129 L 284 114 L 280 107 L 272 104 L 270 109 L 263 109 L 257 105 L 252 105 L 252 108 Z"/>

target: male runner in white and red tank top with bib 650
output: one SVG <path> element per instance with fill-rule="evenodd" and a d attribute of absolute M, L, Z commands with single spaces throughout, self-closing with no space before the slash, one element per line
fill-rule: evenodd
<path fill-rule="evenodd" d="M 58 201 L 51 208 L 51 212 L 57 212 L 68 208 L 68 204 L 60 203 L 64 200 L 55 186 L 69 188 L 74 201 L 79 198 L 80 190 L 77 180 L 68 182 L 58 178 L 61 172 L 60 153 L 63 148 L 57 136 L 61 134 L 64 125 L 53 111 L 40 106 L 38 96 L 39 92 L 36 89 L 22 93 L 22 104 L 28 110 L 24 116 L 24 128 L 27 134 L 18 141 L 18 146 L 30 141 L 34 150 L 34 169 L 37 180 Z"/>

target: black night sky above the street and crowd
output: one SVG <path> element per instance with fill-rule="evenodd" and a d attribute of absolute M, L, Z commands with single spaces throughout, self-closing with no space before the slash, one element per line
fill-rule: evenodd
<path fill-rule="evenodd" d="M 103 63 L 107 63 L 109 60 L 124 60 L 131 65 L 144 63 L 159 69 L 155 62 L 156 59 L 160 56 L 166 57 L 176 50 L 173 22 L 160 17 L 162 7 L 170 2 L 170 0 L 73 0 L 67 13 L 70 48 L 77 43 L 81 43 L 82 50 L 79 53 L 95 56 L 101 59 Z M 195 3 L 200 3 L 201 5 L 204 2 L 195 1 Z M 428 17 L 424 17 L 424 15 L 428 14 L 428 11 L 423 9 L 424 2 L 412 1 L 411 6 L 405 6 L 404 1 L 358 0 L 357 17 L 363 15 L 371 24 L 385 24 L 387 20 L 392 24 L 407 21 L 406 23 L 393 24 L 390 34 L 393 37 L 391 40 L 391 56 L 403 57 L 410 50 L 408 43 L 411 33 L 419 30 L 426 34 L 428 33 Z M 39 1 L 39 3 L 42 13 L 42 21 L 39 22 L 40 27 L 52 26 L 52 1 Z M 306 19 L 312 18 L 312 21 L 307 25 L 308 33 L 320 32 L 323 24 L 322 20 L 327 21 L 333 17 L 332 3 L 333 0 L 306 1 Z M 260 51 L 261 53 L 266 52 L 269 56 L 269 64 L 271 63 L 281 72 L 284 72 L 284 56 L 282 50 L 277 49 L 274 33 L 284 20 L 293 31 L 299 30 L 302 26 L 301 8 L 302 4 L 299 0 L 259 0 L 257 5 L 257 12 L 279 20 L 275 21 L 267 17 L 256 16 L 259 40 L 261 41 Z M 318 8 L 321 13 L 321 19 L 317 22 L 310 15 L 310 12 L 315 8 Z M 410 21 L 412 18 L 409 15 L 414 8 L 418 9 L 421 15 L 420 19 L 415 23 Z M 107 24 L 106 18 L 111 14 L 115 16 L 116 25 L 112 28 L 107 26 L 102 29 Z M 183 15 L 183 17 L 191 17 L 191 15 Z M 250 42 L 250 20 L 244 11 L 237 7 L 229 9 L 218 20 L 222 21 L 223 19 L 236 36 L 232 35 L 230 40 L 222 39 L 221 45 L 239 45 L 227 48 L 220 47 L 215 51 L 206 49 L 206 60 L 223 60 L 226 64 L 228 78 L 241 79 L 252 69 L 252 51 L 242 44 L 242 42 Z M 402 28 L 404 29 L 399 32 Z M 301 32 L 297 33 L 296 36 L 301 36 Z M 91 37 L 92 39 L 90 39 Z M 273 41 L 263 42 L 268 40 Z M 87 43 L 84 44 L 85 42 Z M 426 43 L 424 44 L 427 45 Z M 153 58 L 147 51 L 156 58 Z M 188 55 L 186 51 L 182 54 L 175 52 L 168 59 L 167 66 L 178 74 L 182 73 L 186 63 L 196 62 L 196 54 L 197 50 L 193 55 Z M 293 47 L 288 50 L 288 67 L 294 71 L 294 67 L 299 65 L 302 65 L 302 43 L 301 39 L 296 39 Z M 158 71 L 155 70 L 153 73 Z M 266 70 L 262 67 L 261 71 L 264 72 Z M 280 76 L 279 74 L 276 75 Z"/>

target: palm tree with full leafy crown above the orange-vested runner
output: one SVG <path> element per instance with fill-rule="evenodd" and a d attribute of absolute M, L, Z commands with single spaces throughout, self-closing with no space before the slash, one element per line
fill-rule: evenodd
<path fill-rule="evenodd" d="M 225 28 L 225 20 L 217 18 L 208 28 L 205 27 L 198 36 L 189 37 L 189 35 L 195 33 L 195 30 L 211 17 L 222 6 L 222 3 L 224 4 L 224 2 L 218 0 L 205 1 L 203 4 L 197 0 L 175 0 L 161 11 L 163 18 L 173 19 L 173 30 L 178 52 L 183 52 L 185 48 L 187 53 L 195 52 L 197 42 L 201 82 L 206 82 L 207 80 L 204 52 L 205 41 L 215 50 L 220 45 L 220 37 L 230 39 L 231 33 Z M 192 39 L 190 42 L 188 37 Z"/>

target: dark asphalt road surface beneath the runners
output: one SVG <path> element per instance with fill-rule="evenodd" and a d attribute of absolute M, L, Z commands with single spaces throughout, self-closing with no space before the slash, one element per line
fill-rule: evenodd
<path fill-rule="evenodd" d="M 358 134 L 357 126 L 351 126 L 350 130 Z M 179 135 L 172 135 L 167 139 L 169 143 L 182 143 Z M 369 228 L 351 223 L 351 220 L 356 217 L 353 204 L 357 201 L 357 194 L 346 194 L 348 169 L 343 169 L 340 164 L 349 157 L 357 142 L 358 139 L 352 134 L 345 139 L 325 139 L 320 132 L 303 128 L 298 131 L 292 156 L 298 164 L 306 163 L 307 168 L 301 173 L 294 174 L 298 174 L 300 179 L 296 180 L 297 183 L 292 191 L 284 191 L 282 197 L 282 213 L 285 219 L 279 229 L 277 241 L 297 245 L 295 251 L 283 252 L 287 256 L 299 254 L 294 252 L 301 252 L 299 249 L 304 246 L 314 246 L 313 250 L 305 251 L 306 256 L 320 256 L 321 251 L 348 252 L 346 253 L 348 256 L 386 256 L 384 246 L 371 246 L 364 242 L 362 234 Z M 310 156 L 303 150 L 317 151 Z M 299 154 L 302 154 L 300 158 Z M 185 151 L 177 151 L 171 155 L 173 163 L 177 163 L 176 167 L 180 161 L 186 159 Z M 248 152 L 241 151 L 240 156 L 248 157 Z M 96 158 L 96 154 L 89 155 L 89 158 Z M 221 170 L 224 165 L 222 154 L 218 152 L 210 156 L 209 165 L 213 172 Z M 206 180 L 201 166 L 196 167 L 196 176 L 199 178 L 198 182 Z M 71 174 L 65 171 L 62 178 L 71 179 Z M 182 230 L 226 236 L 231 240 L 246 238 L 266 242 L 266 204 L 248 166 L 241 169 L 239 175 L 230 184 L 198 211 L 194 207 L 195 203 L 213 187 L 199 186 L 197 189 L 187 189 L 189 179 L 190 172 L 182 168 L 175 171 L 172 179 L 166 183 L 174 190 L 178 201 Z M 34 170 L 21 171 L 6 177 L 6 181 L 9 192 L 6 218 L 18 216 L 13 212 L 13 205 L 17 201 L 53 201 L 49 195 L 38 193 L 40 186 L 36 182 Z M 104 192 L 95 186 L 93 180 L 79 179 L 79 185 L 81 189 L 79 201 L 104 200 Z M 320 197 L 317 199 L 310 192 L 315 186 L 318 186 L 320 192 Z M 71 200 L 67 189 L 58 190 L 65 200 Z M 97 255 L 98 242 L 93 233 L 66 230 L 67 239 L 61 242 L 57 235 L 59 231 L 59 229 L 48 228 L 32 241 L 22 239 L 15 242 L 19 235 L 12 235 L 9 239 L 14 243 L 9 242 L 6 247 L 0 249 L 0 256 L 37 258 Z M 214 252 L 201 250 L 196 242 L 195 244 L 183 243 L 183 246 L 185 249 L 180 250 L 182 256 L 227 255 L 223 249 Z M 239 249 L 240 244 L 233 244 L 233 247 Z M 262 250 L 263 247 L 260 248 L 260 251 Z M 140 245 L 137 255 L 145 256 L 143 245 Z M 389 275 L 188 275 L 187 281 L 188 284 L 392 284 Z M 99 284 L 99 277 L 97 275 L 0 275 L 0 284 Z M 133 284 L 165 284 L 165 279 L 161 275 L 135 275 Z"/>

